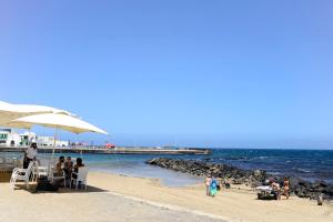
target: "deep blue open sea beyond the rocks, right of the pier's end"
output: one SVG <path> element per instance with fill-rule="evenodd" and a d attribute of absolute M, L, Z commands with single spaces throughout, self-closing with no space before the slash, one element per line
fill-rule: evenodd
<path fill-rule="evenodd" d="M 205 161 L 333 183 L 333 150 L 223 149 L 213 150 Z"/>

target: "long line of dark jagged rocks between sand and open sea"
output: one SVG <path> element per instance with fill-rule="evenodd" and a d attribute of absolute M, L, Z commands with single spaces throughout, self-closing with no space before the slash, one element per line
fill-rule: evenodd
<path fill-rule="evenodd" d="M 192 175 L 213 175 L 215 178 L 228 179 L 232 184 L 246 184 L 255 188 L 264 184 L 268 180 L 274 180 L 283 184 L 283 178 L 287 175 L 271 175 L 263 170 L 244 170 L 222 163 L 208 163 L 204 161 L 179 160 L 168 158 L 155 158 L 147 161 L 148 164 L 158 165 Z M 310 182 L 295 176 L 290 179 L 291 192 L 300 198 L 316 199 L 323 194 L 324 199 L 333 200 L 333 184 L 324 181 Z"/>

